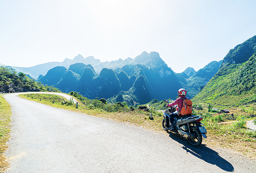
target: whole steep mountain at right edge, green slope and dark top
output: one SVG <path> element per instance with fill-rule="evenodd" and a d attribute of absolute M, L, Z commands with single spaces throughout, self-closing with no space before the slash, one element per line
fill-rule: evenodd
<path fill-rule="evenodd" d="M 220 70 L 193 97 L 195 102 L 239 105 L 256 102 L 256 36 L 231 49 Z"/>

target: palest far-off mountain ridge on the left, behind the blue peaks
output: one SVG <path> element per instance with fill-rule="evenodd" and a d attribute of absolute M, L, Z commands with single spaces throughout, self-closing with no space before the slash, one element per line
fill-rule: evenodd
<path fill-rule="evenodd" d="M 56 66 L 63 66 L 65 68 L 69 68 L 71 64 L 75 63 L 83 63 L 83 64 L 99 64 L 101 61 L 99 59 L 95 59 L 93 56 L 88 56 L 84 58 L 81 54 L 78 54 L 74 59 L 64 59 L 63 62 L 48 62 L 44 64 L 39 64 L 33 67 L 15 67 L 15 66 L 7 66 L 10 68 L 15 69 L 17 72 L 23 72 L 25 74 L 29 74 L 34 79 L 37 79 L 38 76 L 45 75 L 50 69 Z"/>

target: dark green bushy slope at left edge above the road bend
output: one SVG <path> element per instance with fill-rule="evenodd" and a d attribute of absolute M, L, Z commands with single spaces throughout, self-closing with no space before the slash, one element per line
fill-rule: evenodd
<path fill-rule="evenodd" d="M 26 74 L 12 68 L 0 66 L 0 92 L 52 91 L 60 92 L 53 86 L 47 86 L 30 79 Z"/>

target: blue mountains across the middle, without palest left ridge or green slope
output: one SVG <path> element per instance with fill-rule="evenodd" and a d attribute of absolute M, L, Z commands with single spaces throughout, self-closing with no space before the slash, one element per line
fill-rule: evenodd
<path fill-rule="evenodd" d="M 115 102 L 118 98 L 130 105 L 145 104 L 152 99 L 175 99 L 178 89 L 185 87 L 188 97 L 195 96 L 200 86 L 205 86 L 218 71 L 221 62 L 213 61 L 203 69 L 187 68 L 175 73 L 160 58 L 157 52 L 142 52 L 139 56 L 119 59 L 109 63 L 71 64 L 69 68 L 57 66 L 38 79 L 43 84 L 53 85 L 63 92 L 77 91 L 89 99 L 96 97 Z M 103 68 L 97 74 L 99 67 Z M 192 83 L 193 84 L 190 84 Z"/>

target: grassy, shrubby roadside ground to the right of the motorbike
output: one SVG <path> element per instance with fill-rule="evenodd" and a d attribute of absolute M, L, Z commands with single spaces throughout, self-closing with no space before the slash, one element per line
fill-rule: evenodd
<path fill-rule="evenodd" d="M 230 109 L 237 108 L 230 107 Z M 205 106 L 204 110 L 194 110 L 193 113 L 203 116 L 201 122 L 207 130 L 204 143 L 230 148 L 247 157 L 256 158 L 256 131 L 246 128 L 246 120 L 250 119 L 249 114 L 241 109 L 235 110 L 235 115 L 232 117 L 234 120 L 229 123 L 230 114 L 210 113 L 208 106 Z"/>

